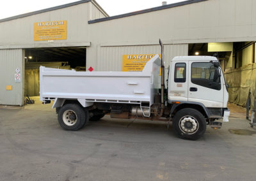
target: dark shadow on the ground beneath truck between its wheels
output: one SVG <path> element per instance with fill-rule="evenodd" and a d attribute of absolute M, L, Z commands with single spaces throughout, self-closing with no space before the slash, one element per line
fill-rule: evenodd
<path fill-rule="evenodd" d="M 170 126 L 168 127 L 168 122 L 164 121 L 112 119 L 108 116 L 97 122 L 88 122 L 88 124 L 79 132 L 81 132 L 79 134 L 86 134 L 86 136 L 88 136 L 87 133 L 89 132 L 98 132 L 100 135 L 97 135 L 97 138 L 104 137 L 104 139 L 109 138 L 110 140 L 115 136 L 122 137 L 122 134 L 125 134 L 126 136 L 134 134 L 138 136 L 150 135 L 157 138 L 164 137 L 168 141 L 173 139 L 180 140 L 179 136 L 177 136 L 172 129 L 172 122 L 170 122 Z M 92 134 L 90 136 L 92 136 Z M 138 139 L 139 138 L 140 137 L 138 137 Z M 199 140 L 204 140 L 204 138 L 200 138 Z M 127 141 L 127 139 L 124 141 Z"/>

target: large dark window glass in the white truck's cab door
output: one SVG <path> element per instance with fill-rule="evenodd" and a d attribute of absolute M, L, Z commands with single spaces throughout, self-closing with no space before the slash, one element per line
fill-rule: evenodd
<path fill-rule="evenodd" d="M 220 90 L 220 69 L 211 62 L 195 62 L 191 68 L 191 82 L 210 89 Z"/>

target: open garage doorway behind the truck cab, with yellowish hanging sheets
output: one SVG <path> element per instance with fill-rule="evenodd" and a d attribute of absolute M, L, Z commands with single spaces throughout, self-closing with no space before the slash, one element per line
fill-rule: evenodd
<path fill-rule="evenodd" d="M 228 84 L 228 101 L 253 108 L 256 98 L 256 41 L 191 43 L 188 55 L 219 59 Z"/>

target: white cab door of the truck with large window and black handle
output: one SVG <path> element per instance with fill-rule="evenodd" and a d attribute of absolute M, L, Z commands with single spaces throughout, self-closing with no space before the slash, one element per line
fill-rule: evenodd
<path fill-rule="evenodd" d="M 202 103 L 209 108 L 222 107 L 220 68 L 210 61 L 189 61 L 189 75 L 188 101 Z"/>

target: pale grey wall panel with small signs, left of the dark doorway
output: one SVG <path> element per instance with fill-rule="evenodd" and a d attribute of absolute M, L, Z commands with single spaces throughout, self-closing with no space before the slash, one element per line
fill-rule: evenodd
<path fill-rule="evenodd" d="M 24 51 L 22 49 L 0 50 L 0 105 L 23 105 L 24 99 Z M 21 82 L 15 83 L 15 69 L 20 69 Z M 12 91 L 6 91 L 12 85 Z"/>

